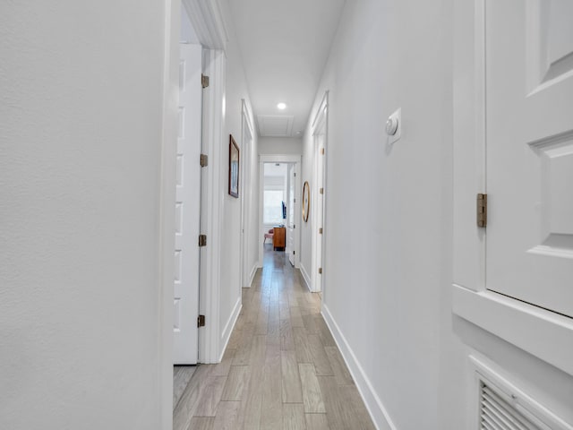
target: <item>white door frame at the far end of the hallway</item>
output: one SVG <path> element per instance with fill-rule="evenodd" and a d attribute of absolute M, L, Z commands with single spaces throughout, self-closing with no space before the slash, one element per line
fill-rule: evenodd
<path fill-rule="evenodd" d="M 261 232 L 262 224 L 262 206 L 264 201 L 264 177 L 265 177 L 265 163 L 293 163 L 295 165 L 296 183 L 295 183 L 295 268 L 298 269 L 300 263 L 300 242 L 301 242 L 301 213 L 300 213 L 300 201 L 301 201 L 301 156 L 300 155 L 260 155 L 259 156 L 259 214 L 260 222 L 257 228 L 258 232 Z M 258 239 L 262 239 L 259 236 Z M 262 244 L 262 240 L 259 240 Z M 263 261 L 263 248 L 259 245 L 259 267 L 262 267 Z"/>

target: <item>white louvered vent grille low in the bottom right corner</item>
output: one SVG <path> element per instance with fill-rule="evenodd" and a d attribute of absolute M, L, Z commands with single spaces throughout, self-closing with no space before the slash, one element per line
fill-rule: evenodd
<path fill-rule="evenodd" d="M 542 430 L 483 382 L 480 394 L 480 429 Z"/>

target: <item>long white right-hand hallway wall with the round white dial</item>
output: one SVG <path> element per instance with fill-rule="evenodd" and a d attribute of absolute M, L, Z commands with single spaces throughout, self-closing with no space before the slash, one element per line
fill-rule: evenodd
<path fill-rule="evenodd" d="M 312 109 L 329 90 L 323 311 L 380 428 L 464 428 L 449 298 L 452 7 L 346 2 Z M 398 107 L 402 139 L 389 146 Z M 314 186 L 311 133 L 309 122 L 302 180 Z"/>

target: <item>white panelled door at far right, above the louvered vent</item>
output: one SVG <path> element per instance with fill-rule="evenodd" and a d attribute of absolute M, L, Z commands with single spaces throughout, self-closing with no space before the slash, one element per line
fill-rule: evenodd
<path fill-rule="evenodd" d="M 573 2 L 486 2 L 486 287 L 573 317 Z"/>

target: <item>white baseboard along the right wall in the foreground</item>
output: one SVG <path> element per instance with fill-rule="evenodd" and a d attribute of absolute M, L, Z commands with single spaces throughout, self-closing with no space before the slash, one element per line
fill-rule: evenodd
<path fill-rule="evenodd" d="M 329 326 L 329 330 L 332 333 L 332 337 L 337 342 L 338 349 L 346 362 L 346 366 L 352 374 L 353 379 L 355 380 L 356 388 L 360 392 L 364 404 L 366 405 L 366 409 L 370 413 L 370 417 L 372 417 L 372 421 L 374 422 L 374 426 L 378 430 L 397 430 L 397 427 L 394 426 L 392 423 L 391 418 L 389 417 L 388 411 L 384 408 L 380 398 L 376 394 L 372 387 L 372 383 L 370 383 L 370 379 L 364 373 L 362 366 L 356 359 L 355 353 L 352 351 L 348 342 L 338 324 L 334 321 L 332 314 L 329 312 L 329 308 L 327 305 L 322 304 L 322 317 L 324 321 Z"/>

